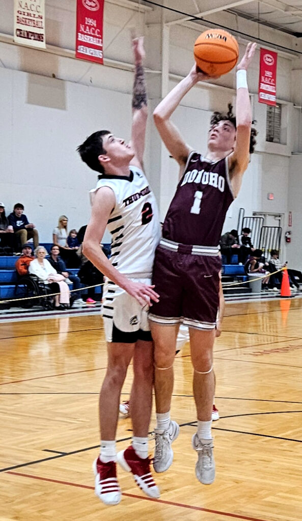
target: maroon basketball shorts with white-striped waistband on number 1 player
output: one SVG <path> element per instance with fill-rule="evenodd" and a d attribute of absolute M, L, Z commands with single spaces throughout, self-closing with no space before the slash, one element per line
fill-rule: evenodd
<path fill-rule="evenodd" d="M 189 246 L 162 239 L 155 252 L 152 283 L 160 300 L 149 320 L 214 329 L 219 306 L 218 247 Z"/>

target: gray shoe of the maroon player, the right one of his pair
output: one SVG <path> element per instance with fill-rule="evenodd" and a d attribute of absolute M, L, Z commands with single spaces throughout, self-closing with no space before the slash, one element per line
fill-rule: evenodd
<path fill-rule="evenodd" d="M 215 479 L 213 438 L 211 440 L 200 440 L 196 432 L 192 437 L 192 447 L 198 452 L 198 460 L 195 466 L 196 477 L 203 485 L 211 485 Z"/>

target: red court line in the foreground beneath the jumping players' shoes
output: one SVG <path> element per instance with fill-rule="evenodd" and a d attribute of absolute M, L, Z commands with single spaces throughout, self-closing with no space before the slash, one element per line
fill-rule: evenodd
<path fill-rule="evenodd" d="M 7 474 L 11 474 L 13 476 L 21 476 L 31 479 L 38 479 L 40 481 L 48 481 L 51 483 L 58 483 L 59 485 L 68 485 L 70 487 L 78 487 L 78 488 L 84 488 L 88 490 L 94 490 L 94 487 L 91 487 L 90 485 L 81 485 L 80 483 L 72 483 L 70 481 L 61 481 L 59 479 L 51 479 L 51 478 L 44 478 L 42 476 L 32 476 L 30 474 L 22 474 L 19 472 L 7 472 Z M 233 517 L 235 519 L 244 519 L 245 521 L 266 521 L 265 519 L 259 519 L 256 517 L 250 517 L 250 516 L 244 516 L 241 514 L 234 514 L 231 512 L 222 512 L 219 510 L 212 510 L 212 508 L 204 508 L 202 506 L 195 506 L 195 505 L 186 505 L 185 503 L 176 503 L 174 501 L 167 501 L 164 499 L 154 499 L 154 498 L 148 498 L 137 494 L 129 494 L 127 492 L 123 492 L 123 495 L 127 498 L 134 498 L 134 499 L 140 499 L 143 501 L 152 501 L 154 503 L 164 504 L 164 505 L 170 505 L 170 506 L 178 506 L 181 508 L 188 508 L 189 510 L 197 510 L 201 512 L 208 512 L 209 514 L 219 514 L 226 517 Z"/>

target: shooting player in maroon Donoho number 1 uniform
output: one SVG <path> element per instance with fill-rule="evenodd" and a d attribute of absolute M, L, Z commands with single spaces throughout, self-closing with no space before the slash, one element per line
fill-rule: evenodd
<path fill-rule="evenodd" d="M 211 435 L 214 395 L 213 343 L 219 305 L 219 239 L 229 205 L 237 196 L 249 153 L 255 144 L 251 135 L 251 106 L 247 68 L 256 44 L 247 45 L 237 66 L 236 119 L 229 113 L 214 113 L 206 156 L 185 143 L 171 116 L 184 95 L 198 81 L 209 77 L 192 67 L 188 76 L 164 98 L 154 111 L 154 121 L 170 154 L 180 167 L 180 181 L 168 209 L 163 238 L 156 249 L 153 284 L 160 294 L 149 319 L 155 343 L 155 454 L 156 472 L 164 472 L 173 461 L 171 443 L 179 426 L 170 418 L 173 391 L 173 361 L 179 324 L 189 327 L 193 390 L 198 428 L 192 446 L 198 452 L 196 476 L 209 485 L 215 478 Z"/>

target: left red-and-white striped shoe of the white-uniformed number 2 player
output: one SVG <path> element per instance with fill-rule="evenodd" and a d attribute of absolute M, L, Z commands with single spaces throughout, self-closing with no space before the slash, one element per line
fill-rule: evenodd
<path fill-rule="evenodd" d="M 105 505 L 118 505 L 122 499 L 122 492 L 116 477 L 116 463 L 103 463 L 98 457 L 94 460 L 92 468 L 95 476 L 95 495 Z"/>

